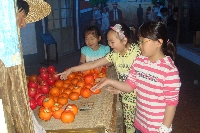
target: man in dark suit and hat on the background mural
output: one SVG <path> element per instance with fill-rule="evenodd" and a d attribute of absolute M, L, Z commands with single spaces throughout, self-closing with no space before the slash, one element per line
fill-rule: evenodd
<path fill-rule="evenodd" d="M 119 8 L 117 8 L 118 6 L 117 2 L 114 2 L 112 5 L 113 9 L 109 12 L 110 25 L 122 23 L 123 22 L 122 11 Z"/>

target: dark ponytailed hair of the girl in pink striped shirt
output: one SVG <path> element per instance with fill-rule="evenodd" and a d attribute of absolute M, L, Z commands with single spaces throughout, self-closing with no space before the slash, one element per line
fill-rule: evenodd
<path fill-rule="evenodd" d="M 163 40 L 162 51 L 165 55 L 175 60 L 176 49 L 168 39 L 167 28 L 162 22 L 147 22 L 140 26 L 138 37 L 148 38 L 153 41 Z"/>

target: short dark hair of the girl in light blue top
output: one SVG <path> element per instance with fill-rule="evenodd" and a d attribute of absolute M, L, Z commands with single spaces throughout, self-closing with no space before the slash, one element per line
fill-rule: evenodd
<path fill-rule="evenodd" d="M 99 29 L 97 28 L 97 26 L 89 26 L 85 29 L 84 35 L 88 35 L 88 34 L 92 34 L 94 35 L 96 38 L 99 38 L 99 36 L 101 36 L 101 33 L 99 31 Z"/>

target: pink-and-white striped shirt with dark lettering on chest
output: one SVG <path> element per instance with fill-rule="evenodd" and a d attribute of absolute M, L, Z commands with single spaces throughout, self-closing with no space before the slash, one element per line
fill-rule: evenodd
<path fill-rule="evenodd" d="M 169 56 L 154 63 L 139 56 L 126 82 L 137 92 L 135 127 L 142 133 L 158 133 L 166 105 L 178 104 L 181 83 L 174 62 Z"/>

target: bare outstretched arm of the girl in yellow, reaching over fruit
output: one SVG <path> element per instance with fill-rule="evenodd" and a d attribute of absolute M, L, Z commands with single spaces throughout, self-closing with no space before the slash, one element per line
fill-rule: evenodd
<path fill-rule="evenodd" d="M 95 61 L 90 61 L 90 62 L 81 64 L 81 65 L 78 65 L 75 67 L 71 67 L 71 68 L 67 69 L 66 71 L 59 73 L 57 75 L 60 75 L 60 79 L 65 80 L 67 78 L 67 76 L 72 72 L 86 71 L 86 70 L 93 69 L 96 67 L 104 66 L 108 63 L 109 63 L 108 60 L 104 57 L 104 58 L 100 58 Z"/>

